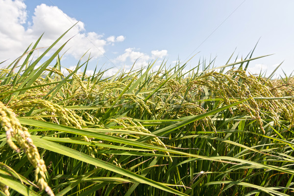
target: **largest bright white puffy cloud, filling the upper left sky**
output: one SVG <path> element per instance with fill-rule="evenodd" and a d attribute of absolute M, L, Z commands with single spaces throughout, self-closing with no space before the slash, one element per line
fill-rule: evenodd
<path fill-rule="evenodd" d="M 0 21 L 0 61 L 14 60 L 44 32 L 38 47 L 49 47 L 60 35 L 77 23 L 76 19 L 69 17 L 58 7 L 42 3 L 34 9 L 32 22 L 28 24 L 24 0 L 0 0 Z M 27 24 L 27 29 L 24 24 Z M 107 42 L 124 40 L 122 35 L 103 39 L 103 35 L 96 32 L 86 32 L 82 22 L 78 22 L 60 40 L 60 45 L 70 38 L 72 39 L 64 51 L 68 49 L 66 55 L 73 55 L 76 59 L 79 59 L 88 49 L 94 58 L 98 58 L 105 53 Z"/>

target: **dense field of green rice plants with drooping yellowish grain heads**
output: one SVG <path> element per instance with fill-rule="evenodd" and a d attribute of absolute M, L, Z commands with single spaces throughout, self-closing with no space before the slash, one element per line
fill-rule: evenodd
<path fill-rule="evenodd" d="M 65 75 L 63 36 L 0 70 L 1 195 L 294 194 L 294 78 L 246 73 L 265 56 Z"/>

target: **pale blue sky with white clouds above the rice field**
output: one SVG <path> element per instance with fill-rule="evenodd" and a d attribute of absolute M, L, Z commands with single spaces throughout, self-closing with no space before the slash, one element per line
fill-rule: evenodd
<path fill-rule="evenodd" d="M 61 64 L 73 69 L 92 57 L 88 74 L 97 66 L 112 75 L 121 69 L 174 66 L 192 56 L 215 59 L 214 66 L 244 59 L 258 44 L 249 72 L 276 76 L 294 71 L 293 0 L 0 0 L 0 62 L 7 66 L 44 33 L 35 57 L 77 23 L 60 40 Z M 49 55 L 50 55 L 49 54 Z M 49 58 L 49 55 L 45 56 Z"/>

